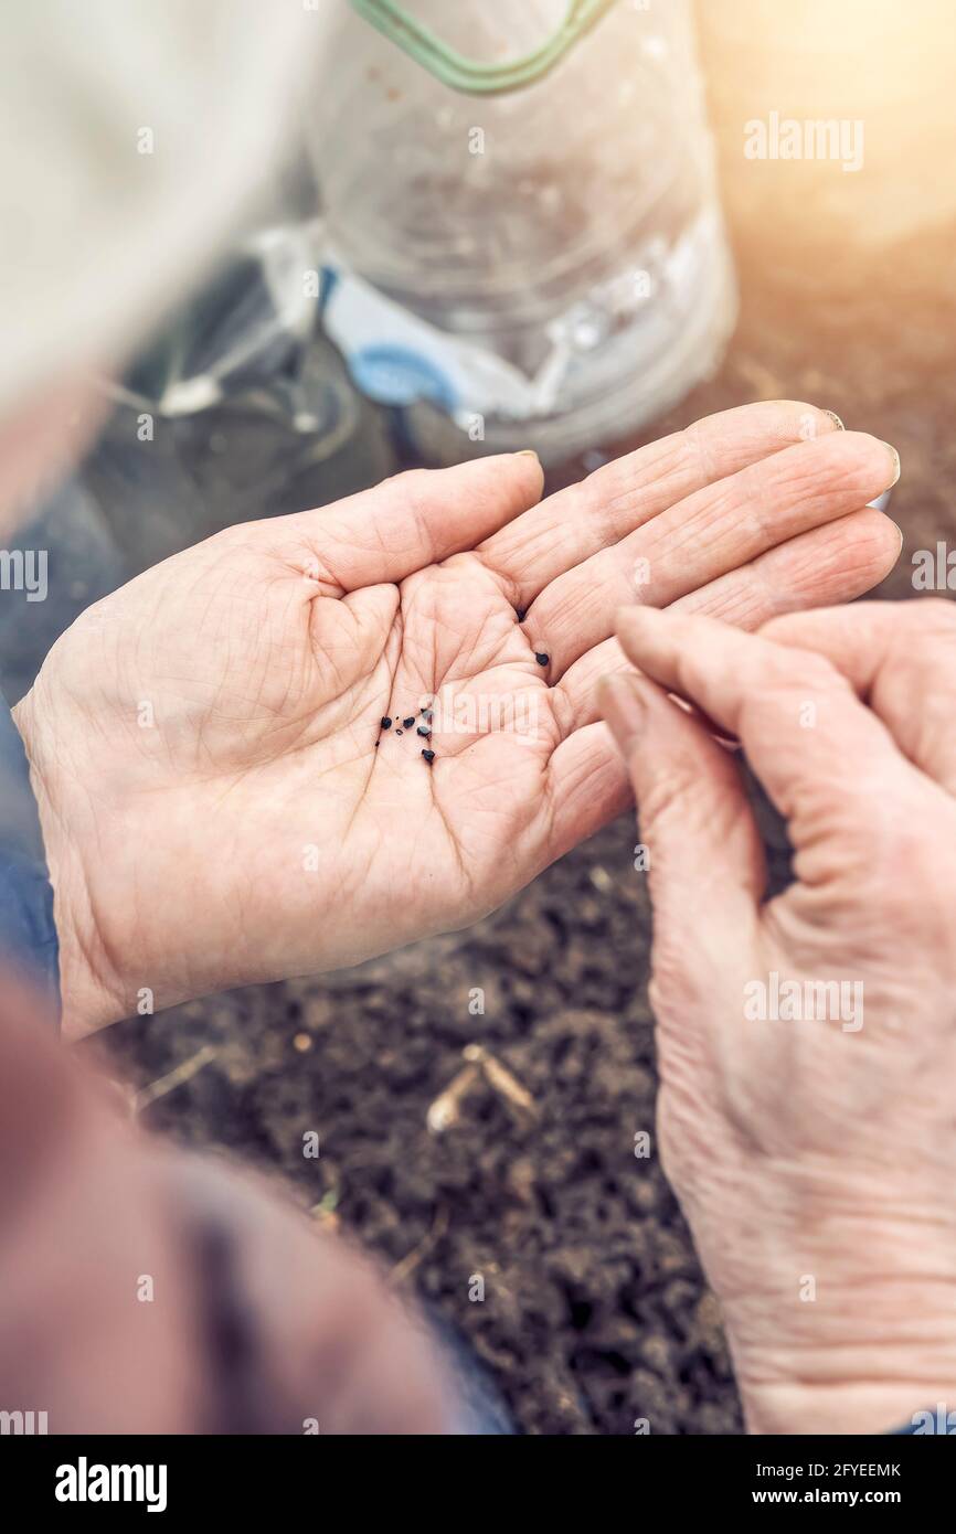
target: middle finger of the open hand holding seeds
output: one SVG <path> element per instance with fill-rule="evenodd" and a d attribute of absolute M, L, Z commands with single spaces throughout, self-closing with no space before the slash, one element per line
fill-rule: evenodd
<path fill-rule="evenodd" d="M 864 433 L 784 448 L 704 486 L 559 575 L 531 604 L 525 630 L 551 657 L 551 676 L 560 676 L 608 638 L 615 607 L 635 597 L 664 607 L 767 549 L 865 506 L 895 476 L 893 449 Z"/>

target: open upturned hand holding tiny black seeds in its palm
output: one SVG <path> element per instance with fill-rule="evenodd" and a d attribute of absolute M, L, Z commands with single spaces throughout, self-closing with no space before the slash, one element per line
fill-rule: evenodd
<path fill-rule="evenodd" d="M 858 595 L 899 551 L 862 509 L 892 479 L 824 413 L 749 407 L 540 503 L 534 456 L 399 476 L 91 607 L 17 710 L 72 1031 L 493 910 L 629 799 L 615 609 Z"/>

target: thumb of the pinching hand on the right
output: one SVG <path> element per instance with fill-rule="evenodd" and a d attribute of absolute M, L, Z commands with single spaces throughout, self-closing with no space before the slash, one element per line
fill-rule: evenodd
<path fill-rule="evenodd" d="M 600 707 L 634 784 L 655 950 L 668 953 L 671 931 L 686 948 L 697 913 L 698 940 L 741 943 L 757 923 L 766 865 L 735 759 L 634 672 L 602 683 Z"/>

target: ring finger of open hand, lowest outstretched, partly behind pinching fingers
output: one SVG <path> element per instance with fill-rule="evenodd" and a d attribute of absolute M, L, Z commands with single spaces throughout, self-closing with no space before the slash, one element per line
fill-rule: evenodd
<path fill-rule="evenodd" d="M 869 508 L 853 511 L 778 543 L 743 569 L 680 597 L 671 611 L 704 612 L 738 629 L 760 629 L 783 614 L 853 601 L 885 580 L 901 548 L 895 522 Z"/>

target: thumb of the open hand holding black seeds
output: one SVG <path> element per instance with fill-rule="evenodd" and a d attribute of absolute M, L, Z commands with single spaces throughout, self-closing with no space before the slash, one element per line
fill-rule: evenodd
<path fill-rule="evenodd" d="M 411 469 L 331 506 L 296 512 L 273 526 L 284 545 L 302 540 L 322 595 L 399 581 L 474 548 L 532 506 L 543 489 L 534 453 L 502 453 L 451 469 Z"/>

